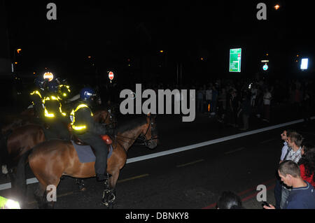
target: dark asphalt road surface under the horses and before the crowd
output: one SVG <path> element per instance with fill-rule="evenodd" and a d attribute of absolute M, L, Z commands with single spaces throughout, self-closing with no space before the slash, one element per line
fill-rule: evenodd
<path fill-rule="evenodd" d="M 251 117 L 252 131 L 293 120 L 297 114 L 289 113 L 288 106 L 272 108 L 272 122 Z M 118 117 L 123 123 L 130 117 Z M 211 141 L 225 136 L 244 133 L 216 122 L 209 115 L 197 115 L 195 122 L 183 123 L 180 116 L 158 116 L 160 144 L 155 150 L 134 145 L 128 160 L 148 154 Z M 314 123 L 289 126 L 304 137 L 314 137 Z M 120 173 L 116 187 L 118 209 L 210 209 L 223 191 L 230 190 L 241 196 L 244 207 L 261 209 L 256 200 L 258 185 L 267 187 L 267 201 L 274 203 L 273 187 L 276 168 L 281 154 L 281 131 L 286 127 L 197 147 L 183 152 L 127 163 Z M 27 178 L 34 178 L 28 169 Z M 9 182 L 0 178 L 0 184 Z M 34 201 L 36 184 L 27 187 L 27 206 L 37 208 Z M 85 180 L 86 191 L 80 192 L 73 178 L 66 177 L 57 188 L 55 208 L 104 208 L 101 203 L 103 186 L 94 178 Z M 0 191 L 10 196 L 10 189 Z"/>

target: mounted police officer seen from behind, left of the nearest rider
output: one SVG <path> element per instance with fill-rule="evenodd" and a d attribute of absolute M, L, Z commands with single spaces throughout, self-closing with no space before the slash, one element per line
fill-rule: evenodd
<path fill-rule="evenodd" d="M 56 80 L 48 82 L 48 93 L 43 99 L 44 112 L 43 117 L 45 124 L 48 124 L 48 131 L 46 134 L 54 134 L 54 136 L 48 136 L 48 138 L 60 138 L 62 140 L 70 140 L 70 133 L 66 127 L 69 124 L 69 116 L 62 110 L 62 103 L 59 96 L 57 96 L 58 83 Z"/>

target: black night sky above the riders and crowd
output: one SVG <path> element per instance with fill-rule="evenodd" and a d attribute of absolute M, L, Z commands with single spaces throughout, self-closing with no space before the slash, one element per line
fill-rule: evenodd
<path fill-rule="evenodd" d="M 144 73 L 144 58 L 159 61 L 165 50 L 171 70 L 181 62 L 189 71 L 220 73 L 228 71 L 229 49 L 242 48 L 247 72 L 258 71 L 266 52 L 281 58 L 279 72 L 297 53 L 314 52 L 311 1 L 5 2 L 10 48 L 23 49 L 29 71 L 51 66 L 71 73 L 92 56 L 99 70 L 121 69 L 131 58 L 135 72 Z M 57 20 L 46 18 L 49 2 L 57 5 Z M 256 18 L 259 2 L 267 4 L 267 20 Z"/>

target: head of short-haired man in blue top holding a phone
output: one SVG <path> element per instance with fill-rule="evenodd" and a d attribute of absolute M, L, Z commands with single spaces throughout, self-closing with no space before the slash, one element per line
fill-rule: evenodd
<path fill-rule="evenodd" d="M 295 180 L 301 179 L 300 167 L 291 160 L 283 161 L 279 166 L 278 173 L 281 181 L 288 187 L 292 187 Z"/>

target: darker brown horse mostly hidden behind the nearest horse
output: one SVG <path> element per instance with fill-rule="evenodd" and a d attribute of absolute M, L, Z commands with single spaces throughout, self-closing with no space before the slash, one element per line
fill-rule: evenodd
<path fill-rule="evenodd" d="M 94 121 L 108 124 L 110 127 L 116 127 L 117 121 L 113 114 L 107 110 L 99 110 L 93 115 Z M 12 134 L 6 138 L 1 138 L 1 164 L 9 164 L 8 168 L 12 169 L 18 164 L 18 160 L 28 150 L 34 148 L 38 143 L 45 141 L 43 127 L 37 124 L 26 124 L 13 129 Z M 3 158 L 5 157 L 5 158 Z M 12 172 L 12 171 L 11 171 Z"/>

